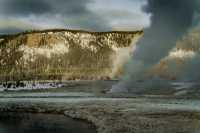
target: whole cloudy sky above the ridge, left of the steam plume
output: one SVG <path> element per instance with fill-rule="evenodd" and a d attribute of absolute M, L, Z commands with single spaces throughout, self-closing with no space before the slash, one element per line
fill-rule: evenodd
<path fill-rule="evenodd" d="M 150 25 L 146 0 L 0 0 L 0 33 L 70 28 L 135 30 Z"/>

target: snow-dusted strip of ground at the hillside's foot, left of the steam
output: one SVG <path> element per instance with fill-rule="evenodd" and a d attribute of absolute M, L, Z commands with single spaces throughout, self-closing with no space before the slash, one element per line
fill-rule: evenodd
<path fill-rule="evenodd" d="M 0 92 L 17 92 L 17 91 L 73 91 L 82 92 L 106 92 L 109 91 L 116 80 L 100 80 L 100 81 L 90 81 L 90 80 L 81 80 L 81 81 L 63 81 L 63 82 L 54 82 L 54 81 L 38 81 L 38 82 L 29 82 L 24 81 L 23 87 L 16 87 L 15 83 L 10 85 L 0 84 Z"/>

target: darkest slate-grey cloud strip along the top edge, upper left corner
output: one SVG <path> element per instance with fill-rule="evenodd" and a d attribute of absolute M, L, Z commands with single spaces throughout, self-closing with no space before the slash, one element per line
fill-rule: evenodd
<path fill-rule="evenodd" d="M 89 0 L 2 0 L 1 13 L 29 15 L 41 13 L 84 14 Z"/>

